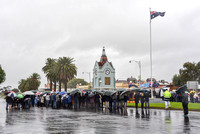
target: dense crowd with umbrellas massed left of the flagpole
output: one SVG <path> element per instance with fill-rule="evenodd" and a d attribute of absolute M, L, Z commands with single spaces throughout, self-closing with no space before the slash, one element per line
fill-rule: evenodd
<path fill-rule="evenodd" d="M 51 107 L 53 109 L 67 108 L 80 109 L 91 108 L 100 109 L 106 108 L 111 112 L 119 108 L 126 109 L 127 101 L 134 100 L 136 109 L 138 103 L 141 103 L 141 108 L 149 108 L 149 92 L 123 92 L 115 91 L 109 94 L 92 90 L 77 91 L 73 94 L 67 92 L 45 92 L 35 95 L 25 95 L 17 97 L 8 92 L 6 96 L 6 110 L 9 109 L 29 109 L 31 107 Z M 11 94 L 11 95 L 10 95 Z M 123 95 L 122 95 L 123 94 Z"/>

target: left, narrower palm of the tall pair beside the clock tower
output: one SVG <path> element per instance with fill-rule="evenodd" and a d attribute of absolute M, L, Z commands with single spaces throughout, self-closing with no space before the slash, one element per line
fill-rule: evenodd
<path fill-rule="evenodd" d="M 42 71 L 46 74 L 47 79 L 50 81 L 50 90 L 52 90 L 53 81 L 54 85 L 56 85 L 55 81 L 55 66 L 56 66 L 56 59 L 47 58 L 46 65 L 42 68 Z M 55 86 L 54 86 L 55 87 Z M 55 88 L 54 88 L 55 90 Z"/>

